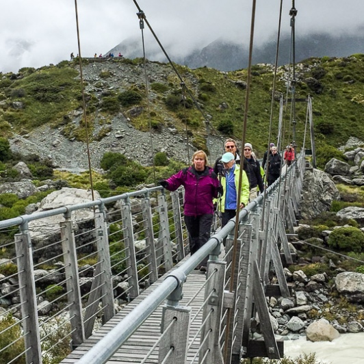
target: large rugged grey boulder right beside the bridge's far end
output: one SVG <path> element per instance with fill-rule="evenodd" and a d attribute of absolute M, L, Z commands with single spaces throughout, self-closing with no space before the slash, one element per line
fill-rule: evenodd
<path fill-rule="evenodd" d="M 315 218 L 322 211 L 328 211 L 333 200 L 339 198 L 339 190 L 327 173 L 315 168 L 306 170 L 302 189 L 302 218 Z"/>

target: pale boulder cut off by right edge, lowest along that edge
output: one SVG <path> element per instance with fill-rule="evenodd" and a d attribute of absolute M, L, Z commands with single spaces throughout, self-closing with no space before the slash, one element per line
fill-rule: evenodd
<path fill-rule="evenodd" d="M 364 303 L 364 274 L 343 272 L 335 278 L 336 289 L 350 302 Z"/>

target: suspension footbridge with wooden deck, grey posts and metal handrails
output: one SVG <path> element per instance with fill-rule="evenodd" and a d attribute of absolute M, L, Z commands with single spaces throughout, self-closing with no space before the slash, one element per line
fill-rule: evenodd
<path fill-rule="evenodd" d="M 292 263 L 287 231 L 300 215 L 304 168 L 301 153 L 240 211 L 238 226 L 230 220 L 192 256 L 183 190 L 152 187 L 1 221 L 1 233 L 16 231 L 0 246 L 2 272 L 13 272 L 0 275 L 2 315 L 16 317 L 0 331 L 11 336 L 1 356 L 44 363 L 66 343 L 61 363 L 281 358 L 266 297 L 290 296 L 282 257 Z M 207 274 L 194 270 L 205 257 Z M 263 340 L 252 335 L 258 322 Z"/>

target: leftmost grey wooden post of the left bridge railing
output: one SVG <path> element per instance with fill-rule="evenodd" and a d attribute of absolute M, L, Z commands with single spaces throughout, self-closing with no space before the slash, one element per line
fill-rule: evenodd
<path fill-rule="evenodd" d="M 33 255 L 27 223 L 20 226 L 21 233 L 15 235 L 16 265 L 18 265 L 19 291 L 21 296 L 21 315 L 27 364 L 42 363 L 40 332 L 36 302 L 36 283 L 34 281 Z"/>

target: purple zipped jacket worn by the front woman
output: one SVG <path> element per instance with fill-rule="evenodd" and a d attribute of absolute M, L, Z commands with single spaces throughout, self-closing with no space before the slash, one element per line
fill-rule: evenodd
<path fill-rule="evenodd" d="M 167 190 L 175 191 L 181 185 L 185 187 L 185 216 L 213 214 L 213 198 L 218 197 L 220 185 L 213 168 L 207 166 L 202 174 L 198 174 L 194 166 L 184 168 L 169 179 Z"/>

